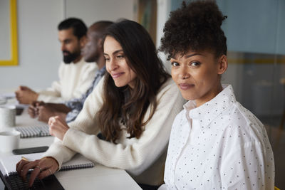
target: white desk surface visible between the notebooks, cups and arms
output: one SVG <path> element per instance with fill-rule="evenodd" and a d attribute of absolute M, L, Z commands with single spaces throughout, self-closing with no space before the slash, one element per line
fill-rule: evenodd
<path fill-rule="evenodd" d="M 27 110 L 24 110 L 21 116 L 16 116 L 16 126 L 46 125 L 43 122 L 31 119 Z M 54 137 L 36 137 L 20 139 L 20 148 L 39 147 L 50 145 Z M 1 144 L 2 145 L 2 144 Z M 12 153 L 1 153 L 7 155 Z M 57 172 L 56 177 L 66 190 L 73 189 L 141 189 L 130 175 L 123 169 L 112 169 L 95 164 L 95 167 L 89 169 L 78 169 L 71 171 Z"/>

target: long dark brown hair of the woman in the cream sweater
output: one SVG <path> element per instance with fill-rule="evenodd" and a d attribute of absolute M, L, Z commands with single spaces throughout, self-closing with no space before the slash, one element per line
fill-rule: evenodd
<path fill-rule="evenodd" d="M 100 130 L 107 140 L 115 142 L 120 137 L 123 122 L 129 138 L 139 138 L 157 107 L 157 92 L 170 75 L 157 57 L 149 33 L 139 23 L 128 20 L 113 23 L 105 36 L 112 36 L 120 43 L 128 66 L 137 77 L 135 88 L 130 90 L 128 85 L 116 87 L 110 74 L 105 73 L 103 106 L 97 113 Z M 151 112 L 144 120 L 150 105 Z"/>

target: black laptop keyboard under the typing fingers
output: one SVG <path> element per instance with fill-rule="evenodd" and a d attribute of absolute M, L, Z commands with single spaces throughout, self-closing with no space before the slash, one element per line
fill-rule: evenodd
<path fill-rule="evenodd" d="M 22 181 L 21 177 L 17 173 L 12 173 L 9 176 L 6 176 L 6 180 L 9 181 L 9 184 L 11 184 L 12 189 L 44 189 L 42 181 L 38 178 L 36 178 L 33 182 L 33 186 L 28 188 L 28 179 L 30 179 L 30 173 L 28 173 L 26 181 Z"/>

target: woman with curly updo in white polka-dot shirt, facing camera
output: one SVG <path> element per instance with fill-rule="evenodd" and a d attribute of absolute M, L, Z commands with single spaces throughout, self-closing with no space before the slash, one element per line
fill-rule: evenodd
<path fill-rule="evenodd" d="M 189 100 L 175 117 L 160 189 L 274 189 L 274 158 L 264 125 L 221 84 L 227 70 L 226 16 L 214 1 L 170 14 L 161 51 Z"/>

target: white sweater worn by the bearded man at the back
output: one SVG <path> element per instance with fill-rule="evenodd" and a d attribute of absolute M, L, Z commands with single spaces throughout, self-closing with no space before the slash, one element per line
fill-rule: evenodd
<path fill-rule="evenodd" d="M 41 90 L 38 101 L 63 102 L 81 97 L 95 77 L 98 66 L 95 63 L 86 63 L 83 58 L 78 63 L 61 63 L 58 69 L 58 81 L 54 81 L 51 88 Z"/>

